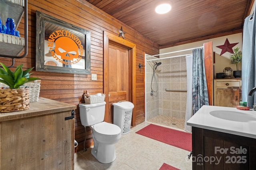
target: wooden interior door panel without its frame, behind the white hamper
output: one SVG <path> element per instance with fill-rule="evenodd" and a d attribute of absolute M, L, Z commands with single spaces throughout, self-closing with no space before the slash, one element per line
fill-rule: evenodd
<path fill-rule="evenodd" d="M 108 122 L 113 123 L 113 103 L 129 101 L 129 49 L 108 46 Z"/>

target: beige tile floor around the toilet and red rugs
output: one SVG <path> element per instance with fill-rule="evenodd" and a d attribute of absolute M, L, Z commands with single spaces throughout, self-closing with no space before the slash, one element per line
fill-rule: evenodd
<path fill-rule="evenodd" d="M 155 120 L 160 121 L 159 117 L 155 118 Z M 184 129 L 184 120 L 181 119 L 180 121 L 183 121 L 183 127 L 181 128 Z M 177 122 L 176 120 L 174 123 L 177 125 L 179 124 Z M 136 131 L 150 123 L 154 123 L 154 118 L 132 128 L 130 133 L 122 135 L 120 141 L 115 145 L 116 160 L 114 162 L 109 164 L 98 162 L 90 153 L 91 148 L 89 148 L 86 152 L 80 151 L 75 154 L 75 170 L 159 170 L 163 163 L 172 165 L 180 170 L 192 170 L 192 160 L 187 158 L 189 151 L 136 133 Z M 168 124 L 162 124 L 162 126 L 166 127 Z M 176 129 L 178 126 L 172 128 Z"/>

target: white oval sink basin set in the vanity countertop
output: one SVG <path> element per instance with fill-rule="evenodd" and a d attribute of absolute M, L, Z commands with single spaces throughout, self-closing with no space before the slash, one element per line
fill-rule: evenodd
<path fill-rule="evenodd" d="M 215 110 L 210 111 L 210 115 L 218 117 L 220 119 L 239 121 L 239 122 L 251 122 L 256 121 L 256 116 L 242 113 L 239 111 L 227 111 L 227 110 Z"/>

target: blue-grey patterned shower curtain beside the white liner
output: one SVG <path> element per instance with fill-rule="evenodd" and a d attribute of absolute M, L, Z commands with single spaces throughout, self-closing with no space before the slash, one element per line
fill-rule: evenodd
<path fill-rule="evenodd" d="M 193 115 L 203 106 L 209 105 L 208 88 L 204 68 L 204 49 L 193 49 L 192 100 Z"/>

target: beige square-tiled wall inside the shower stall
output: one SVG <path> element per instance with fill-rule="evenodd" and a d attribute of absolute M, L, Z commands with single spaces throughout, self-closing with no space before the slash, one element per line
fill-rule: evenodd
<path fill-rule="evenodd" d="M 150 83 L 153 70 L 153 63 L 147 63 L 146 69 L 146 105 L 147 120 L 156 115 L 166 115 L 176 118 L 185 118 L 186 113 L 186 92 L 166 92 L 166 89 L 186 90 L 186 57 L 175 57 L 171 59 L 162 59 L 162 62 L 156 70 L 158 81 L 158 96 L 150 96 Z M 158 105 L 158 106 L 157 106 Z"/>

